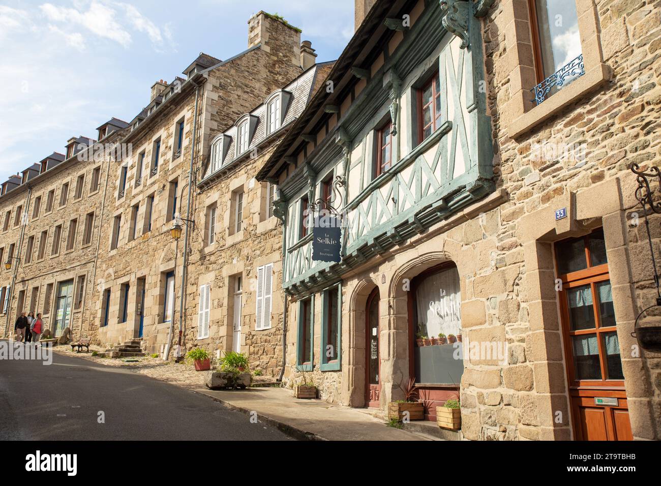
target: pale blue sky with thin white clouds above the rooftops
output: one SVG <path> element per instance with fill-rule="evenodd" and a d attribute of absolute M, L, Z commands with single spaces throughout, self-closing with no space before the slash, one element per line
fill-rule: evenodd
<path fill-rule="evenodd" d="M 319 62 L 354 32 L 354 0 L 0 0 L 0 180 L 130 122 L 200 52 L 239 54 L 260 10 L 301 28 Z"/>

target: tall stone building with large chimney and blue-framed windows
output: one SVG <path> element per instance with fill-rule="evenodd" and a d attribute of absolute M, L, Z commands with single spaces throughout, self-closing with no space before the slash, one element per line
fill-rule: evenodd
<path fill-rule="evenodd" d="M 164 356 L 171 356 L 169 343 L 194 343 L 200 277 L 188 267 L 198 261 L 204 232 L 198 197 L 211 204 L 198 185 L 202 164 L 221 130 L 301 75 L 301 63 L 313 54 L 307 44 L 301 53 L 301 31 L 280 17 L 259 12 L 248 24 L 245 52 L 225 61 L 200 54 L 184 77 L 155 83 L 122 140 L 132 146 L 132 157 L 110 167 L 93 299 L 100 343 L 142 338 L 144 350 Z M 253 117 L 245 118 L 253 130 Z M 224 199 L 218 204 L 225 211 Z M 176 240 L 175 223 L 183 226 Z M 219 244 L 225 245 L 221 228 L 219 220 Z M 221 312 L 217 304 L 214 317 Z"/>

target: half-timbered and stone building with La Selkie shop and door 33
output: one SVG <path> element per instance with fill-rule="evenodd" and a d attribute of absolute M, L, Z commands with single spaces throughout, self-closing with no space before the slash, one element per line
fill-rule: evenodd
<path fill-rule="evenodd" d="M 658 440 L 630 170 L 659 165 L 658 2 L 370 4 L 258 174 L 286 212 L 286 382 L 383 415 L 412 377 L 471 440 Z"/>

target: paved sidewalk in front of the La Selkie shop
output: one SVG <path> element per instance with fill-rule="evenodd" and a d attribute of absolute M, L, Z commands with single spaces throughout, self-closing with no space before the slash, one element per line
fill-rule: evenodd
<path fill-rule="evenodd" d="M 255 412 L 260 421 L 301 440 L 432 440 L 388 427 L 359 409 L 295 399 L 286 388 L 195 391 L 247 415 Z"/>

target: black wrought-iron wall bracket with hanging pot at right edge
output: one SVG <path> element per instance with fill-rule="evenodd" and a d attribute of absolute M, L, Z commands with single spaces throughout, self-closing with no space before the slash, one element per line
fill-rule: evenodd
<path fill-rule="evenodd" d="M 650 305 L 644 309 L 636 318 L 634 325 L 634 332 L 631 333 L 633 337 L 638 340 L 638 344 L 646 351 L 661 352 L 661 325 L 644 326 L 639 325 L 639 321 L 644 313 L 654 307 L 661 307 L 661 288 L 659 283 L 659 273 L 656 267 L 656 259 L 654 258 L 654 245 L 652 244 L 652 233 L 650 233 L 650 222 L 647 218 L 647 207 L 655 214 L 661 214 L 661 203 L 654 204 L 652 195 L 654 190 L 650 188 L 649 179 L 658 178 L 661 187 L 661 171 L 658 167 L 650 167 L 650 172 L 641 171 L 638 164 L 633 164 L 631 171 L 637 176 L 638 187 L 636 188 L 636 200 L 642 205 L 642 215 L 645 220 L 645 229 L 647 231 L 647 239 L 650 243 L 650 252 L 652 253 L 652 269 L 654 270 L 654 284 L 656 284 L 656 304 Z"/>

